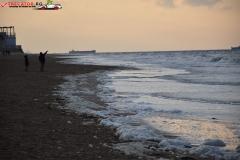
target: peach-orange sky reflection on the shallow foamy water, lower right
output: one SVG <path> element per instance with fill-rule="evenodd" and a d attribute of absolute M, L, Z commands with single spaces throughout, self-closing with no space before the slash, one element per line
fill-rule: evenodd
<path fill-rule="evenodd" d="M 148 117 L 144 120 L 161 134 L 180 136 L 195 145 L 201 144 L 206 139 L 220 139 L 226 143 L 226 149 L 234 150 L 240 144 L 240 139 L 229 129 L 229 127 L 234 127 L 230 124 L 158 116 Z"/>

